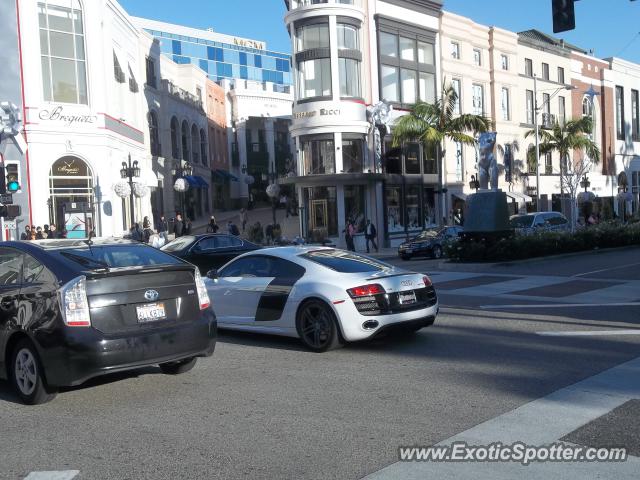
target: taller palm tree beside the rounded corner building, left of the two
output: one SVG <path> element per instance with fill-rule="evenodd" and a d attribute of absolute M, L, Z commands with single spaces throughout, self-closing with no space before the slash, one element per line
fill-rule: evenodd
<path fill-rule="evenodd" d="M 491 128 L 491 120 L 482 115 L 455 113 L 458 94 L 451 85 L 442 87 L 442 94 L 435 103 L 416 103 L 411 111 L 401 116 L 393 127 L 393 146 L 404 142 L 421 142 L 425 148 L 436 148 L 438 154 L 438 183 L 440 191 L 444 184 L 442 159 L 445 158 L 445 140 L 464 145 L 475 145 L 474 135 Z M 442 202 L 442 216 L 446 218 L 445 202 Z"/>

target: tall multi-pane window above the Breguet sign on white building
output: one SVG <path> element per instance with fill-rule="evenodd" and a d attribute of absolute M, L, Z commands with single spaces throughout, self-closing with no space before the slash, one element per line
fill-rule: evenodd
<path fill-rule="evenodd" d="M 86 105 L 87 68 L 79 0 L 38 2 L 42 92 L 47 102 Z"/>

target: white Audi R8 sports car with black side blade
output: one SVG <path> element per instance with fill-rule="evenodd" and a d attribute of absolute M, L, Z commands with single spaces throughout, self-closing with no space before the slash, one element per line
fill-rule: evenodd
<path fill-rule="evenodd" d="M 428 276 L 334 248 L 257 250 L 207 277 L 220 328 L 299 337 L 317 352 L 417 331 L 438 313 Z"/>

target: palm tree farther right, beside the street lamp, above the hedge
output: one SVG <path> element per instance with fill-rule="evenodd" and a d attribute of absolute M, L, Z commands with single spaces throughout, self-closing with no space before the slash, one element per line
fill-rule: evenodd
<path fill-rule="evenodd" d="M 573 223 L 575 224 L 574 210 L 577 208 L 577 198 L 574 187 L 574 183 L 577 183 L 576 175 L 578 170 L 588 171 L 591 164 L 598 164 L 600 162 L 600 149 L 596 142 L 589 138 L 589 134 L 593 131 L 593 122 L 591 117 L 582 117 L 579 120 L 569 120 L 564 124 L 556 122 L 553 128 L 550 130 L 540 130 L 540 143 L 539 150 L 540 155 L 546 155 L 549 153 L 557 152 L 560 155 L 560 189 L 561 196 L 564 197 L 564 189 L 568 188 L 569 194 L 572 200 L 572 216 L 574 216 Z M 535 130 L 529 130 L 525 133 L 525 137 L 535 137 Z M 579 150 L 589 157 L 589 165 L 585 166 L 583 161 L 580 165 L 569 165 L 571 153 Z M 539 158 L 536 158 L 536 150 L 532 145 L 527 152 L 527 161 L 534 168 L 538 168 Z M 586 173 L 583 172 L 583 173 Z M 574 205 L 575 204 L 575 205 Z"/>

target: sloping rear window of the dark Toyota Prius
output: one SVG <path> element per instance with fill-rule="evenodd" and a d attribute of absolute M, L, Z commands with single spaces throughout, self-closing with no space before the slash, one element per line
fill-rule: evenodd
<path fill-rule="evenodd" d="M 137 245 L 95 246 L 89 248 L 70 248 L 60 251 L 65 258 L 87 268 L 123 268 L 150 265 L 178 265 L 182 263 L 152 247 Z"/>

